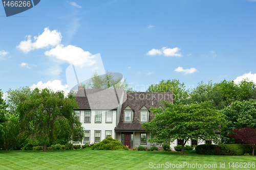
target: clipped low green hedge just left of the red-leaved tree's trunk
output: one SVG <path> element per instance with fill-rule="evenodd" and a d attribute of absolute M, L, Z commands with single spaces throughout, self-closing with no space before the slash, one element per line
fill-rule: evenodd
<path fill-rule="evenodd" d="M 222 155 L 243 155 L 244 147 L 242 144 L 222 144 L 221 152 Z"/>

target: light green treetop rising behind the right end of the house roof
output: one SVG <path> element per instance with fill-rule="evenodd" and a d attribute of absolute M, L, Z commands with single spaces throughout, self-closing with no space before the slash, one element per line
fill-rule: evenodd
<path fill-rule="evenodd" d="M 174 104 L 189 103 L 189 89 L 186 85 L 177 79 L 162 80 L 159 84 L 154 84 L 148 87 L 147 92 L 170 92 L 174 93 Z"/>

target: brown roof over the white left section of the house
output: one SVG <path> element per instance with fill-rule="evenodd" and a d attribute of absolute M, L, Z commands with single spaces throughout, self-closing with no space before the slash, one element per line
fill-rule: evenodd
<path fill-rule="evenodd" d="M 76 102 L 79 109 L 115 109 L 123 89 L 79 89 Z"/>

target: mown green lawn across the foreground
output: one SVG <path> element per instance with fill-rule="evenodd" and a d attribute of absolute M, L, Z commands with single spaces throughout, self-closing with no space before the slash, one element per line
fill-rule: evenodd
<path fill-rule="evenodd" d="M 188 162 L 190 164 L 217 164 L 225 162 L 225 169 L 243 169 L 228 167 L 228 162 L 256 162 L 252 156 L 216 156 L 197 155 L 187 152 L 146 152 L 146 151 L 93 151 L 93 150 L 63 150 L 63 151 L 0 151 L 0 169 L 160 169 L 150 168 L 153 164 L 172 164 Z M 231 164 L 230 164 L 231 165 Z M 155 165 L 157 166 L 157 165 Z M 255 167 L 256 168 L 256 167 Z M 246 168 L 246 169 L 255 169 Z M 163 168 L 167 169 L 167 168 Z M 199 168 L 172 168 L 199 169 Z"/>

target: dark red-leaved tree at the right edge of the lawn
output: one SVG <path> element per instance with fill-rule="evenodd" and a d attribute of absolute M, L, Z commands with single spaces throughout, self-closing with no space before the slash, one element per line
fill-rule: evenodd
<path fill-rule="evenodd" d="M 230 130 L 230 138 L 236 139 L 238 142 L 249 144 L 252 148 L 252 156 L 254 156 L 254 149 L 256 148 L 256 129 L 252 127 L 236 128 Z"/>

